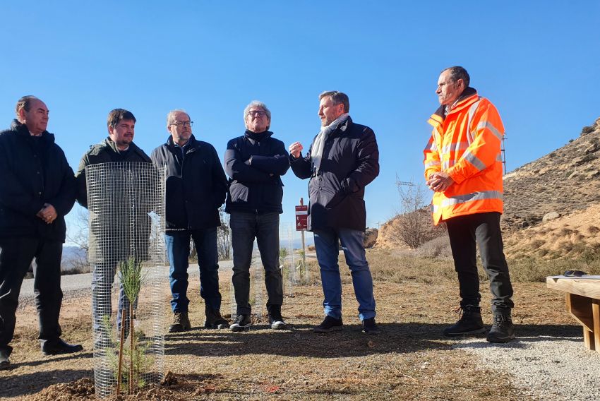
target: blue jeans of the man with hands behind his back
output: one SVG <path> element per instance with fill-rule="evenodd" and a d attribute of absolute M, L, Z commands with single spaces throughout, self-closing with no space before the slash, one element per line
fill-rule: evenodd
<path fill-rule="evenodd" d="M 164 234 L 169 256 L 169 282 L 171 285 L 171 308 L 173 312 L 187 312 L 190 300 L 188 291 L 188 266 L 190 239 L 198 251 L 200 269 L 200 297 L 205 305 L 215 311 L 221 309 L 219 292 L 219 254 L 217 252 L 217 227 L 184 231 L 170 231 Z"/>

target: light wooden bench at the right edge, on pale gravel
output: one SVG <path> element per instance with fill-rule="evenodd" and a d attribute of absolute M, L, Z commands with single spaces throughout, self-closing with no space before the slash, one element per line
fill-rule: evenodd
<path fill-rule="evenodd" d="M 583 326 L 587 349 L 600 352 L 600 277 L 546 277 L 546 286 L 566 292 L 567 311 Z"/>

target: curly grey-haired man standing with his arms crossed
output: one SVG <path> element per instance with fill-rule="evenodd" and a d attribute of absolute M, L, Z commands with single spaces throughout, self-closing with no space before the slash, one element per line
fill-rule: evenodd
<path fill-rule="evenodd" d="M 265 267 L 267 309 L 271 328 L 287 327 L 281 316 L 282 276 L 279 268 L 279 215 L 283 212 L 281 176 L 289 169 L 285 145 L 268 131 L 271 112 L 263 102 L 254 100 L 244 109 L 246 132 L 229 140 L 225 151 L 225 170 L 229 175 L 229 193 L 225 211 L 231 213 L 234 251 L 232 278 L 237 317 L 232 331 L 251 324 L 250 263 L 254 238 Z"/>

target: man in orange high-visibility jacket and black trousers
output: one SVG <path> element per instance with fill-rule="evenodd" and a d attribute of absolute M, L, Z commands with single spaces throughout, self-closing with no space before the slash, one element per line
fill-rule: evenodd
<path fill-rule="evenodd" d="M 425 178 L 433 193 L 433 222 L 448 226 L 458 274 L 460 309 L 448 336 L 485 333 L 479 301 L 476 244 L 490 278 L 493 325 L 489 342 L 515 338 L 510 318 L 512 285 L 503 253 L 500 215 L 504 126 L 496 107 L 469 87 L 462 67 L 446 68 L 436 90 L 440 108 L 429 119 L 431 139 L 424 150 Z"/>

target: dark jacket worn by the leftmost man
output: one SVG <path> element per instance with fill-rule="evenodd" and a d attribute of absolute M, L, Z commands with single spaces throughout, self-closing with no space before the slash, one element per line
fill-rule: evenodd
<path fill-rule="evenodd" d="M 73 170 L 52 133 L 31 136 L 17 120 L 0 132 L 0 235 L 64 241 L 75 192 Z M 49 225 L 36 216 L 44 203 L 58 214 Z"/>

